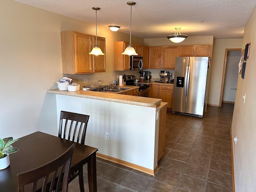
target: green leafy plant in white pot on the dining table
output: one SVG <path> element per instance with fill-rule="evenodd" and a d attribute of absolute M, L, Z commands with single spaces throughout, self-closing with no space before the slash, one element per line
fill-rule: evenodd
<path fill-rule="evenodd" d="M 0 170 L 7 168 L 10 165 L 9 154 L 18 151 L 12 144 L 18 139 L 12 137 L 0 138 Z"/>

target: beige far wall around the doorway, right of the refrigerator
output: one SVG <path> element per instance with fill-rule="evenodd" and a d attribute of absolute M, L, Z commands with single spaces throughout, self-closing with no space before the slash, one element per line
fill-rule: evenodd
<path fill-rule="evenodd" d="M 207 103 L 219 106 L 225 49 L 242 48 L 243 39 L 215 39 L 212 48 L 212 64 Z"/>

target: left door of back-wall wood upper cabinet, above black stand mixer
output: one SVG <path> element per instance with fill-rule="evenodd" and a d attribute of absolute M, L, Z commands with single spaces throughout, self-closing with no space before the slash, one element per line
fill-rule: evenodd
<path fill-rule="evenodd" d="M 148 68 L 162 68 L 162 49 L 163 47 L 150 47 L 148 50 Z"/>

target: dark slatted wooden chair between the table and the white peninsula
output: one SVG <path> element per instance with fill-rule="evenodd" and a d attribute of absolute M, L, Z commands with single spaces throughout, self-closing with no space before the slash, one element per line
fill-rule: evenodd
<path fill-rule="evenodd" d="M 85 135 L 89 120 L 88 115 L 61 111 L 59 133 L 60 138 L 71 140 L 80 144 L 85 144 Z M 70 173 L 69 182 L 79 176 L 80 192 L 84 192 L 83 166 L 75 172 Z"/>

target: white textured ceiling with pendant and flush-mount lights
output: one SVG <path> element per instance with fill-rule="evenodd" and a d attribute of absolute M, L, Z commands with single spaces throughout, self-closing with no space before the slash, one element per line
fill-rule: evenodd
<path fill-rule="evenodd" d="M 130 33 L 130 6 L 127 0 L 15 0 L 78 20 L 121 26 Z M 132 35 L 141 38 L 164 38 L 175 27 L 188 36 L 242 38 L 244 26 L 256 0 L 135 0 L 132 6 Z"/>

